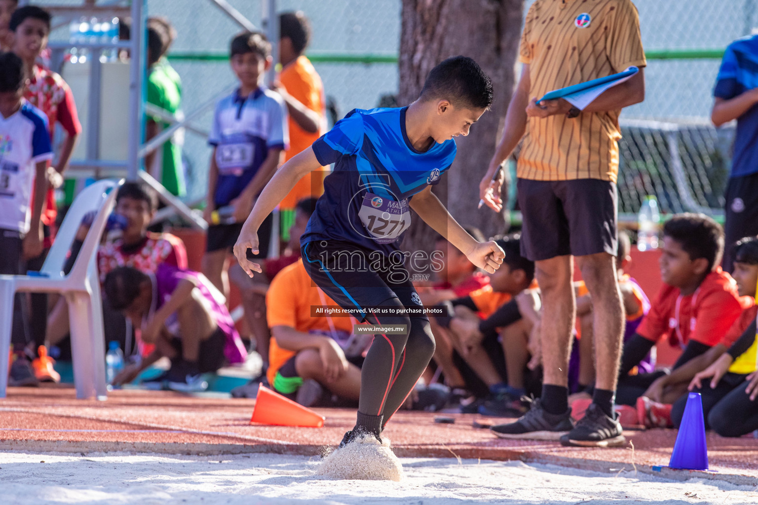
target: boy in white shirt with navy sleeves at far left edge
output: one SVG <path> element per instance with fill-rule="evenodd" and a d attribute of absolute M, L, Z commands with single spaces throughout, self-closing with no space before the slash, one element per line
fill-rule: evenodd
<path fill-rule="evenodd" d="M 26 260 L 42 253 L 42 205 L 52 148 L 47 117 L 23 98 L 26 83 L 21 58 L 0 53 L 0 274 L 18 275 L 26 270 Z M 29 335 L 21 301 L 16 295 L 14 362 L 8 381 L 12 386 L 37 383 L 25 354 Z"/>

